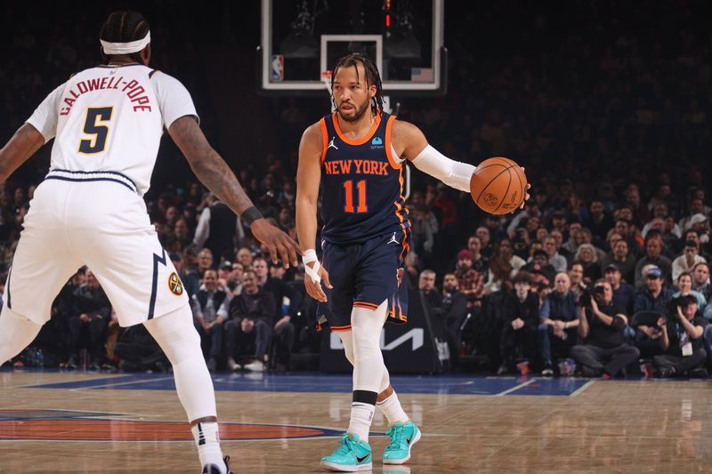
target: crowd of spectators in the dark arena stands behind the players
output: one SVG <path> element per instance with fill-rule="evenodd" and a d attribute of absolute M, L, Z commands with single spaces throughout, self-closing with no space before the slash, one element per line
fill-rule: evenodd
<path fill-rule="evenodd" d="M 231 148 L 218 123 L 244 118 L 225 112 L 214 99 L 220 94 L 206 92 L 205 71 L 214 66 L 188 67 L 175 53 L 190 64 L 203 59 L 188 35 L 174 30 L 181 24 L 192 31 L 174 18 L 180 12 L 164 12 L 160 4 L 149 20 L 156 37 L 172 46 L 157 45 L 157 67 L 188 86 L 215 148 Z M 448 94 L 404 99 L 399 116 L 449 157 L 473 164 L 513 157 L 532 183 L 521 212 L 493 216 L 465 193 L 413 173 L 406 274 L 411 287 L 438 294 L 428 301 L 440 309 L 431 314 L 441 318 L 454 367 L 465 367 L 473 353 L 486 354 L 490 370 L 500 374 L 527 364 L 566 374 L 575 364 L 582 374 L 614 376 L 639 366 L 638 359 L 646 373 L 663 375 L 704 374 L 708 367 L 712 44 L 694 5 L 649 6 L 447 5 Z M 24 7 L 2 8 L 7 22 Z M 55 20 L 63 18 L 56 13 Z M 18 59 L 0 64 L 5 139 L 56 84 L 96 62 L 96 35 L 87 34 L 98 31 L 96 18 L 73 19 L 85 27 L 69 28 L 73 33 L 36 17 L 26 28 L 5 25 Z M 226 18 L 239 21 L 235 12 Z M 448 28 L 458 21 L 472 28 Z M 216 31 L 219 51 L 236 47 L 225 28 Z M 206 46 L 205 40 L 195 45 Z M 237 49 L 247 64 L 253 46 Z M 255 123 L 273 124 L 261 131 L 263 153 L 231 164 L 263 214 L 294 236 L 297 144 L 328 103 L 256 103 Z M 3 273 L 47 169 L 47 147 L 38 155 L 0 185 Z M 191 295 L 209 366 L 263 370 L 265 363 L 289 366 L 295 352 L 317 351 L 314 302 L 303 295 L 302 273 L 264 261 L 249 229 L 178 160 L 164 143 L 146 201 Z M 112 324 L 101 293 L 88 269 L 58 297 L 56 331 L 40 337 L 61 335 L 55 346 L 62 364 L 127 360 L 114 347 L 122 352 L 121 341 L 129 338 Z M 557 363 L 566 359 L 574 362 Z M 127 366 L 165 364 L 152 356 L 132 360 Z"/>

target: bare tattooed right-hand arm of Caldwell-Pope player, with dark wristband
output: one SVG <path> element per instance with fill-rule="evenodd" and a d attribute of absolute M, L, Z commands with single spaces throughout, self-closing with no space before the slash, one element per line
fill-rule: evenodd
<path fill-rule="evenodd" d="M 285 268 L 289 268 L 290 262 L 296 266 L 296 255 L 301 255 L 302 249 L 291 237 L 263 219 L 230 166 L 207 142 L 195 118 L 182 116 L 171 124 L 168 133 L 181 149 L 198 180 L 230 207 L 233 213 L 247 221 L 257 240 L 267 245 L 271 261 L 276 264 L 279 253 Z"/>

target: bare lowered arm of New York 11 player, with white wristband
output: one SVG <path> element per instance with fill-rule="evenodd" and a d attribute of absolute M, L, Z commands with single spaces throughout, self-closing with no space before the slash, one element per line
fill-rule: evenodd
<path fill-rule="evenodd" d="M 304 277 L 306 292 L 317 301 L 327 301 L 320 281 L 330 288 L 328 272 L 320 266 L 316 254 L 317 202 L 321 179 L 323 143 L 320 125 L 307 128 L 299 142 L 299 165 L 296 169 L 296 234 L 304 248 Z"/>

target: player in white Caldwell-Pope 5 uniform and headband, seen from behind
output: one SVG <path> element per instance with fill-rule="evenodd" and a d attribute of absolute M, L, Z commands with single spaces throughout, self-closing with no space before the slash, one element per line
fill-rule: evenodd
<path fill-rule="evenodd" d="M 0 149 L 0 182 L 54 139 L 12 261 L 0 314 L 0 364 L 32 341 L 55 295 L 87 265 L 122 326 L 142 323 L 166 352 L 198 445 L 203 473 L 225 474 L 213 383 L 174 265 L 158 243 L 142 196 L 164 127 L 208 189 L 250 225 L 288 267 L 295 241 L 265 221 L 198 126 L 190 93 L 148 68 L 150 30 L 137 12 L 113 12 L 101 28 L 104 64 L 51 92 Z M 40 291 L 37 291 L 40 289 Z"/>

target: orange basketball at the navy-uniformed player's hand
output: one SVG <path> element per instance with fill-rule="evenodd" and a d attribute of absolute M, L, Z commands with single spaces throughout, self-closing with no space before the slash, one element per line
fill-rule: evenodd
<path fill-rule="evenodd" d="M 512 213 L 527 195 L 527 176 L 522 167 L 509 158 L 489 158 L 474 170 L 470 193 L 482 211 Z"/>

